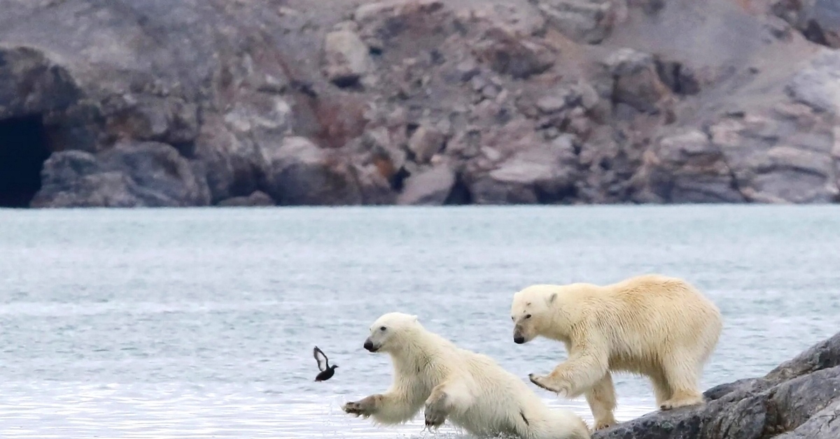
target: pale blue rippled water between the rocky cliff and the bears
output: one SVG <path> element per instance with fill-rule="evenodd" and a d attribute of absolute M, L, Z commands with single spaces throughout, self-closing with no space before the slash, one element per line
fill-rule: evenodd
<path fill-rule="evenodd" d="M 525 379 L 565 353 L 512 342 L 514 291 L 647 272 L 720 306 L 709 387 L 840 331 L 837 261 L 837 206 L 0 211 L 0 437 L 464 437 L 341 412 L 391 381 L 361 347 L 377 316 Z M 616 385 L 620 421 L 654 410 L 644 379 Z"/>

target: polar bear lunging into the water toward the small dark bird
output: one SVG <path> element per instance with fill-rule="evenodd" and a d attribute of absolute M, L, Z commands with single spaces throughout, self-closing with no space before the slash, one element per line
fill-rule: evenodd
<path fill-rule="evenodd" d="M 417 316 L 398 312 L 381 316 L 370 327 L 364 347 L 391 355 L 394 382 L 384 394 L 345 404 L 349 414 L 400 424 L 424 408 L 428 428 L 437 429 L 449 419 L 475 436 L 590 437 L 589 428 L 574 412 L 549 410 L 525 381 L 491 358 L 429 332 Z"/>

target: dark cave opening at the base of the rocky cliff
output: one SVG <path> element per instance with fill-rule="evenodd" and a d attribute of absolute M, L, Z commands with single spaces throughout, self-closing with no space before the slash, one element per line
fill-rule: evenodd
<path fill-rule="evenodd" d="M 41 115 L 0 120 L 0 207 L 29 207 L 49 157 Z"/>

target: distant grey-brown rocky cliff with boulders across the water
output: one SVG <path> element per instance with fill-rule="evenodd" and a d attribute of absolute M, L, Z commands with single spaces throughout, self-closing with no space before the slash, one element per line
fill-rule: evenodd
<path fill-rule="evenodd" d="M 0 10 L 0 206 L 840 200 L 832 0 Z"/>

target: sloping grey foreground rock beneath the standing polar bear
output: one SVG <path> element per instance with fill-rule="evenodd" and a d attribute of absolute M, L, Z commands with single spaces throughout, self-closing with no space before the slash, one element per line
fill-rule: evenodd
<path fill-rule="evenodd" d="M 706 390 L 706 405 L 655 412 L 594 439 L 840 437 L 840 333 L 757 379 Z"/>

